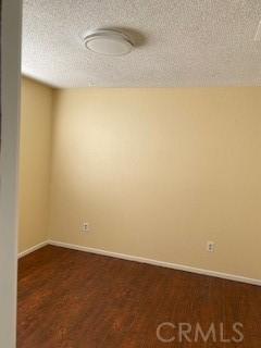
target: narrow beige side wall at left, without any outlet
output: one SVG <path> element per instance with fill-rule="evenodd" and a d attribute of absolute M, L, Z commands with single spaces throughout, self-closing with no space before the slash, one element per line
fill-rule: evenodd
<path fill-rule="evenodd" d="M 52 89 L 22 80 L 18 251 L 48 237 Z"/>

